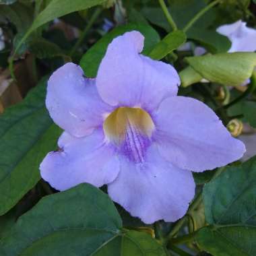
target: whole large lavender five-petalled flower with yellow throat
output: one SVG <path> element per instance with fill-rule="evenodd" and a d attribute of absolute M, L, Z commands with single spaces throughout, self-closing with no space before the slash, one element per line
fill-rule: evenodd
<path fill-rule="evenodd" d="M 65 131 L 40 171 L 55 189 L 106 184 L 132 216 L 174 222 L 195 194 L 191 170 L 224 166 L 245 146 L 208 106 L 177 96 L 177 71 L 142 49 L 143 36 L 127 32 L 109 44 L 96 79 L 73 63 L 53 73 L 46 106 Z"/>

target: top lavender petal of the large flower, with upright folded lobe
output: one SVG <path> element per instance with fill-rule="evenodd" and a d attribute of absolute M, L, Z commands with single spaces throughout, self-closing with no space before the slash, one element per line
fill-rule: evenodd
<path fill-rule="evenodd" d="M 112 106 L 141 106 L 152 110 L 168 96 L 177 94 L 181 83 L 177 71 L 161 61 L 139 55 L 143 36 L 127 32 L 108 45 L 100 63 L 96 86 Z"/>

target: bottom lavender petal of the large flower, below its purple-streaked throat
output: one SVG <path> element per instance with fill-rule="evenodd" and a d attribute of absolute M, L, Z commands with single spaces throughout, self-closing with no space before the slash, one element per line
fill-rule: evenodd
<path fill-rule="evenodd" d="M 148 150 L 143 164 L 121 158 L 119 175 L 108 184 L 108 195 L 147 224 L 183 217 L 194 194 L 191 172 L 163 160 L 156 146 Z"/>

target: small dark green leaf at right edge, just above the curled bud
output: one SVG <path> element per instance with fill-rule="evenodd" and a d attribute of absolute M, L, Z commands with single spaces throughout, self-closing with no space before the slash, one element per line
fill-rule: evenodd
<path fill-rule="evenodd" d="M 230 117 L 236 115 L 243 115 L 241 119 L 245 123 L 249 123 L 252 127 L 256 128 L 256 102 L 245 100 L 236 103 L 234 106 L 228 108 L 228 115 Z"/>

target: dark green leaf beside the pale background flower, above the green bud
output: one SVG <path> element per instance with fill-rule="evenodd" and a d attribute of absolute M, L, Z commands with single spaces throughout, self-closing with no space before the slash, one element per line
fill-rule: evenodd
<path fill-rule="evenodd" d="M 190 28 L 187 38 L 196 40 L 210 53 L 226 53 L 231 47 L 230 40 L 215 30 Z"/>

